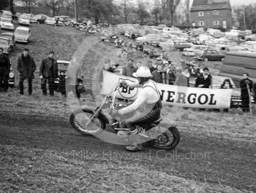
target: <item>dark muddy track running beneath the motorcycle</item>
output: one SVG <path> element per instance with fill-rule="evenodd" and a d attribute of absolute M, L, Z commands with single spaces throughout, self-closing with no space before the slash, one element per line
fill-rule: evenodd
<path fill-rule="evenodd" d="M 223 184 L 256 192 L 255 148 L 216 138 L 194 138 L 181 130 L 181 143 L 174 151 L 146 147 L 140 159 L 123 146 L 105 143 L 72 130 L 67 119 L 40 115 L 0 114 L 0 143 L 46 150 L 86 151 L 92 159 L 147 165 L 196 181 Z M 95 155 L 94 152 L 97 152 Z M 102 159 L 102 161 L 104 161 Z"/>

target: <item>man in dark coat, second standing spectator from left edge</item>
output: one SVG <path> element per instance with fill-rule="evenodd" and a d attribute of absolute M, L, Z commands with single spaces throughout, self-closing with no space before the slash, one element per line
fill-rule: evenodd
<path fill-rule="evenodd" d="M 32 94 L 32 79 L 34 79 L 34 71 L 36 70 L 36 63 L 34 58 L 29 55 L 29 49 L 24 48 L 23 53 L 18 58 L 18 72 L 20 73 L 20 95 L 24 95 L 23 82 L 25 79 L 28 79 L 29 83 L 29 95 Z"/>

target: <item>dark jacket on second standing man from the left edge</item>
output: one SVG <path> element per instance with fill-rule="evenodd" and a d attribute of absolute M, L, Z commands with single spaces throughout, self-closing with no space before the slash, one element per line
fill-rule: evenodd
<path fill-rule="evenodd" d="M 23 78 L 32 79 L 34 78 L 34 71 L 36 68 L 37 66 L 34 62 L 34 58 L 32 58 L 30 55 L 28 55 L 27 58 L 24 58 L 23 54 L 19 56 L 17 69 L 20 76 Z"/>

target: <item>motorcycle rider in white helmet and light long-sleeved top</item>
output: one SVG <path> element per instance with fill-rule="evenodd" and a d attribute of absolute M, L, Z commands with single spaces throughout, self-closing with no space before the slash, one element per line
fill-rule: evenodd
<path fill-rule="evenodd" d="M 138 93 L 138 98 L 131 105 L 124 109 L 113 109 L 111 114 L 113 117 L 127 117 L 126 114 L 137 113 L 143 110 L 143 113 L 139 116 L 135 116 L 132 121 L 127 122 L 128 125 L 150 125 L 160 118 L 162 102 L 157 85 L 150 78 L 152 76 L 150 69 L 146 66 L 140 66 L 138 70 L 133 73 L 133 76 L 138 78 L 138 82 L 126 82 L 122 81 L 121 86 L 129 87 L 141 87 Z M 141 150 L 141 144 L 134 143 L 131 146 L 126 147 L 129 151 Z"/>

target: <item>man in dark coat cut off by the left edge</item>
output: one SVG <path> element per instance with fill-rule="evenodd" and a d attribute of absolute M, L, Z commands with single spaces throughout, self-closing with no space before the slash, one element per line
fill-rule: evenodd
<path fill-rule="evenodd" d="M 7 55 L 4 55 L 4 50 L 0 48 L 0 92 L 8 90 L 10 68 L 10 60 Z"/>

